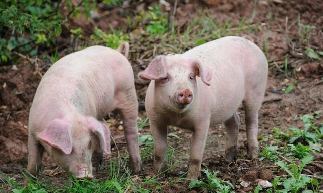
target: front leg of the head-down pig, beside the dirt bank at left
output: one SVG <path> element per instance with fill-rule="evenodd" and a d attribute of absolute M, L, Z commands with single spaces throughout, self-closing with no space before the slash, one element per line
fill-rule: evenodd
<path fill-rule="evenodd" d="M 28 137 L 28 165 L 27 171 L 33 176 L 37 177 L 37 174 L 41 168 L 42 155 L 44 153 L 44 147 L 39 143 L 36 137 L 29 134 Z M 27 172 L 27 176 L 29 176 Z M 31 177 L 31 176 L 29 176 Z M 27 185 L 28 180 L 25 179 L 24 184 Z"/>

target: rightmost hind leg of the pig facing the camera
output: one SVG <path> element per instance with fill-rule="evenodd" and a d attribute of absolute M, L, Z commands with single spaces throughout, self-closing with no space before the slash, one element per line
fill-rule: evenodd
<path fill-rule="evenodd" d="M 245 122 L 247 131 L 247 155 L 250 158 L 257 158 L 258 156 L 258 111 L 263 101 L 263 93 L 253 90 L 247 92 L 243 101 L 245 110 Z"/>

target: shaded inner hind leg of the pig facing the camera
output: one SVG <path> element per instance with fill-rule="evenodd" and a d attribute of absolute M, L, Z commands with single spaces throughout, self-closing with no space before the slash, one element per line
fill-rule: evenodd
<path fill-rule="evenodd" d="M 226 126 L 226 147 L 224 155 L 227 162 L 233 162 L 237 155 L 239 122 L 239 115 L 235 112 L 233 116 L 224 123 Z"/>

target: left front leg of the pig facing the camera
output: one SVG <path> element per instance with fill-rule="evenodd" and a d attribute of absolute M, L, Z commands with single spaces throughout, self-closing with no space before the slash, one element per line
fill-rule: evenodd
<path fill-rule="evenodd" d="M 166 146 L 167 146 L 167 127 L 164 124 L 150 122 L 150 130 L 153 138 L 154 148 L 154 175 L 167 169 Z"/>

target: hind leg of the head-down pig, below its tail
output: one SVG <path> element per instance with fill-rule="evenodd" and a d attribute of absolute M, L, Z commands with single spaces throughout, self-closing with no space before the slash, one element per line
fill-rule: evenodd
<path fill-rule="evenodd" d="M 137 128 L 138 105 L 135 101 L 132 103 L 132 105 L 125 105 L 125 108 L 121 108 L 119 110 L 123 117 L 124 133 L 129 152 L 129 167 L 134 174 L 137 174 L 140 173 L 142 165 L 139 154 L 139 138 Z"/>

